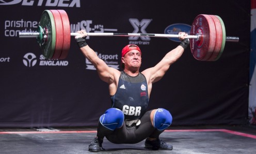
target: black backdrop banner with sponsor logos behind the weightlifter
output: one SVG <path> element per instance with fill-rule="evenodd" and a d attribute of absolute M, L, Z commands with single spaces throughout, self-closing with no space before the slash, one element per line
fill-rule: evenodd
<path fill-rule="evenodd" d="M 186 49 L 153 85 L 148 109 L 168 109 L 173 125 L 247 122 L 249 0 L 6 0 L 0 2 L 0 127 L 96 126 L 111 105 L 108 85 L 73 37 L 65 60 L 45 60 L 36 38 L 19 38 L 20 31 L 37 31 L 42 12 L 50 9 L 68 13 L 71 32 L 175 34 L 173 24 L 189 27 L 199 14 L 220 16 L 227 36 L 238 36 L 239 43 L 226 42 L 216 62 L 197 61 Z M 179 45 L 169 38 L 120 36 L 90 36 L 87 43 L 119 70 L 122 48 L 137 44 L 141 71 Z"/>

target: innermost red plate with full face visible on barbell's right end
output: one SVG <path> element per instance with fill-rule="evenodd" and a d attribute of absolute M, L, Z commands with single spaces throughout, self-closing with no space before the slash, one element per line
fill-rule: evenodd
<path fill-rule="evenodd" d="M 190 40 L 191 53 L 195 59 L 208 60 L 216 42 L 216 28 L 212 17 L 206 14 L 198 15 L 191 26 L 190 35 L 201 35 L 199 40 Z"/>

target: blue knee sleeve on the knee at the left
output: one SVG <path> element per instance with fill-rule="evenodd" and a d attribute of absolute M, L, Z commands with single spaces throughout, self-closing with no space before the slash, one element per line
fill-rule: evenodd
<path fill-rule="evenodd" d="M 110 130 L 115 130 L 123 125 L 124 114 L 120 109 L 110 108 L 101 115 L 100 123 Z"/>

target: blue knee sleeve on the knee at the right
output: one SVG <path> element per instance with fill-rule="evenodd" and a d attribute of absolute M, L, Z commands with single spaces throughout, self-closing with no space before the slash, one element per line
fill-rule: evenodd
<path fill-rule="evenodd" d="M 153 124 L 157 130 L 164 130 L 171 125 L 172 116 L 169 111 L 163 108 L 158 108 L 155 111 Z"/>

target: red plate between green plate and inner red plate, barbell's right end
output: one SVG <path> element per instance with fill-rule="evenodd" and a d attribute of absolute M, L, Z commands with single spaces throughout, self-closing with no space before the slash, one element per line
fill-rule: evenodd
<path fill-rule="evenodd" d="M 213 18 L 215 27 L 216 27 L 216 42 L 212 56 L 207 61 L 216 61 L 216 58 L 220 52 L 221 45 L 222 45 L 222 27 L 219 21 L 219 18 L 215 15 L 210 15 Z"/>

